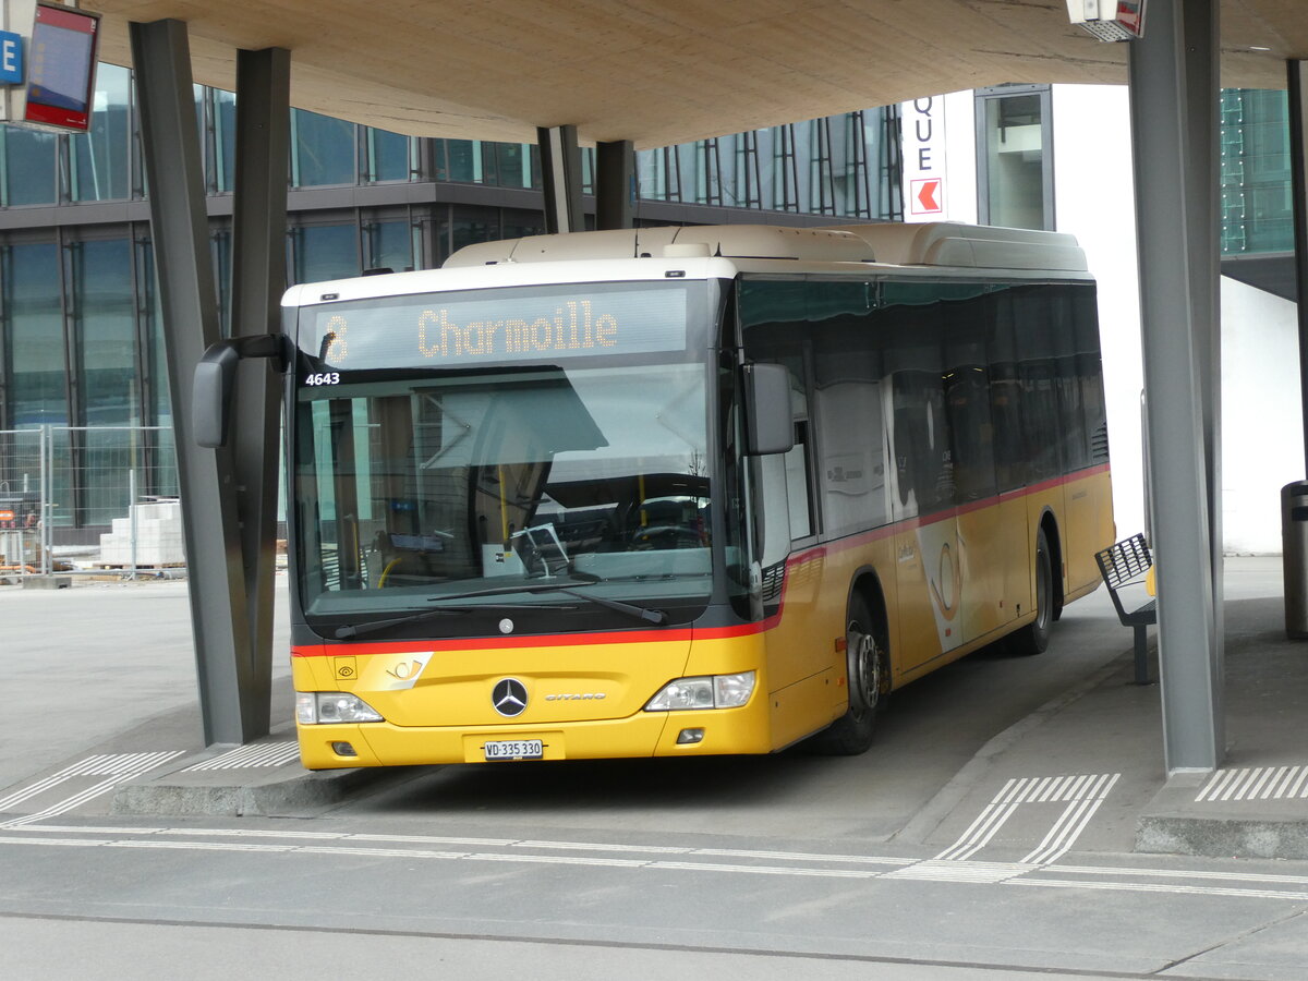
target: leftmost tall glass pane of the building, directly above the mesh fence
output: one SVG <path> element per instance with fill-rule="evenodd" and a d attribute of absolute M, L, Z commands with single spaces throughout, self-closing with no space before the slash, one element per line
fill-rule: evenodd
<path fill-rule="evenodd" d="M 7 246 L 3 272 L 12 425 L 18 429 L 67 425 L 68 371 L 59 300 L 59 246 Z"/>

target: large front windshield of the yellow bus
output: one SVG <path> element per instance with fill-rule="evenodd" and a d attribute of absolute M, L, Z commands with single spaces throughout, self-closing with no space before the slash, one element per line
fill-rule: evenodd
<path fill-rule="evenodd" d="M 463 317 L 456 303 L 420 300 L 447 320 Z M 684 296 L 676 305 L 685 309 Z M 302 348 L 327 354 L 313 368 L 332 369 L 297 378 L 293 538 L 310 623 L 446 602 L 577 607 L 577 594 L 595 599 L 581 603 L 587 610 L 606 600 L 702 610 L 712 475 L 700 310 L 698 349 L 679 340 L 641 357 L 549 352 L 443 370 L 394 354 L 332 362 L 332 341 L 310 335 Z M 332 317 L 352 343 L 362 334 L 362 318 L 347 328 L 345 315 Z M 551 582 L 569 589 L 543 587 Z"/>

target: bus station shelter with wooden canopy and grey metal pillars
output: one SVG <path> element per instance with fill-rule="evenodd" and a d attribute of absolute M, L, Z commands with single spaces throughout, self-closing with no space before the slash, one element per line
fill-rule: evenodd
<path fill-rule="evenodd" d="M 539 141 L 547 226 L 566 232 L 581 226 L 579 144 L 596 146 L 598 224 L 621 228 L 637 148 L 1005 82 L 1129 82 L 1163 751 L 1171 773 L 1220 763 L 1218 93 L 1290 89 L 1301 266 L 1301 4 L 1147 0 L 1143 37 L 1125 43 L 1074 26 L 1066 0 L 95 8 L 101 59 L 135 68 L 141 105 L 207 743 L 249 742 L 269 726 L 279 388 L 268 360 L 246 361 L 232 443 L 196 445 L 192 375 L 220 327 L 194 82 L 238 95 L 242 336 L 279 330 L 288 106 L 413 136 Z M 1121 194 L 1130 177 L 1087 173 L 1087 194 Z"/>

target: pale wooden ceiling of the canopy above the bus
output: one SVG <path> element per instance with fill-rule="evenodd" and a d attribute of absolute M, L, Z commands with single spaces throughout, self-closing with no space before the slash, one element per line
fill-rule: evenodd
<path fill-rule="evenodd" d="M 1165 0 L 1152 0 L 1163 3 Z M 190 26 L 196 81 L 292 52 L 292 103 L 420 136 L 663 146 L 1002 82 L 1125 82 L 1126 47 L 1065 0 L 88 0 L 102 59 L 128 21 Z M 1305 0 L 1222 1 L 1222 84 L 1284 88 Z"/>

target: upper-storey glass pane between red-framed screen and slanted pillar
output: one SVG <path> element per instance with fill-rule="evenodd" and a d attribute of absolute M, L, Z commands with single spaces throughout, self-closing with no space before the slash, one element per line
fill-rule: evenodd
<path fill-rule="evenodd" d="M 123 200 L 131 196 L 131 71 L 112 64 L 99 65 L 95 72 L 90 131 L 68 140 L 69 190 L 75 201 Z"/>

